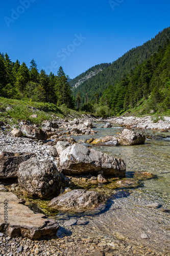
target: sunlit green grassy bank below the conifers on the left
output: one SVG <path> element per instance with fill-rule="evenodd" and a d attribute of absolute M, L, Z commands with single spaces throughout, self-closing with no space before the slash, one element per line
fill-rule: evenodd
<path fill-rule="evenodd" d="M 30 117 L 37 115 L 37 118 Z M 0 120 L 13 125 L 21 120 L 41 124 L 43 120 L 64 118 L 67 115 L 81 116 L 80 113 L 68 109 L 65 105 L 58 108 L 53 103 L 33 102 L 26 100 L 7 99 L 0 97 Z"/>

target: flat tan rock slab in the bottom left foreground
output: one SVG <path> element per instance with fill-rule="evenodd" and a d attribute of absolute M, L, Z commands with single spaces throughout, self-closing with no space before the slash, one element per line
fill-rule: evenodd
<path fill-rule="evenodd" d="M 44 239 L 56 235 L 59 225 L 43 214 L 34 212 L 24 205 L 23 200 L 18 199 L 11 192 L 0 193 L 0 210 L 4 213 L 4 201 L 8 201 L 8 222 L 5 226 L 4 214 L 0 215 L 0 232 L 8 230 L 10 237 L 28 237 L 33 240 Z"/>

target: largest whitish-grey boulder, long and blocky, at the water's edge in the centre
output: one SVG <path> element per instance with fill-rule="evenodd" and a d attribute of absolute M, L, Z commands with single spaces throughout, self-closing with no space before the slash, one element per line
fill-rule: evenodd
<path fill-rule="evenodd" d="M 66 147 L 60 154 L 59 166 L 65 175 L 96 174 L 103 170 L 105 176 L 124 177 L 126 173 L 122 159 L 78 143 Z"/>

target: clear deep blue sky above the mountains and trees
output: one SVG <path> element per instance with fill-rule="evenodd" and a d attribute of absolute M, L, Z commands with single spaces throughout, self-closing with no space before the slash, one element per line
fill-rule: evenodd
<path fill-rule="evenodd" d="M 112 2 L 112 4 L 110 4 Z M 170 26 L 169 0 L 8 0 L 1 2 L 0 52 L 32 58 L 38 70 L 74 78 L 112 62 Z"/>

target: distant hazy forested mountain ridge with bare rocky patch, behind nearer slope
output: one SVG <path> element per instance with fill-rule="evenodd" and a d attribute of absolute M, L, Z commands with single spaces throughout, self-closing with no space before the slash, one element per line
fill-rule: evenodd
<path fill-rule="evenodd" d="M 85 103 L 86 93 L 88 101 L 95 100 L 94 94 L 98 92 L 101 96 L 108 86 L 120 81 L 123 74 L 134 70 L 137 65 L 148 59 L 152 54 L 158 52 L 159 46 L 163 47 L 167 38 L 170 38 L 170 27 L 159 32 L 154 38 L 145 42 L 142 46 L 131 49 L 112 64 L 105 63 L 105 69 L 94 76 L 85 79 L 87 73 L 98 65 L 92 67 L 80 76 L 72 79 L 72 93 L 76 97 L 80 92 L 82 104 Z M 108 65 L 108 66 L 107 66 Z M 100 65 L 99 65 L 100 66 Z M 76 84 L 76 86 L 75 86 Z"/>

